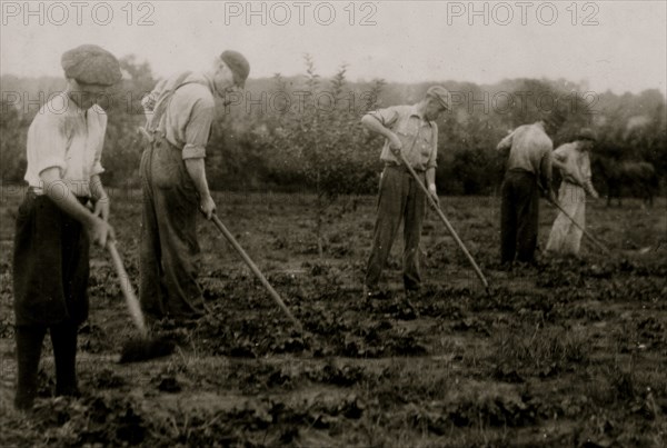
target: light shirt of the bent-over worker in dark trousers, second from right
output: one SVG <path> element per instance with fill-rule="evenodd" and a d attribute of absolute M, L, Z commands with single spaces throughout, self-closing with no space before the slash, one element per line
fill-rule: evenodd
<path fill-rule="evenodd" d="M 554 142 L 541 122 L 519 126 L 498 143 L 497 150 L 507 153 L 508 171 L 527 171 L 541 180 L 544 188 L 551 183 L 551 151 Z"/>

